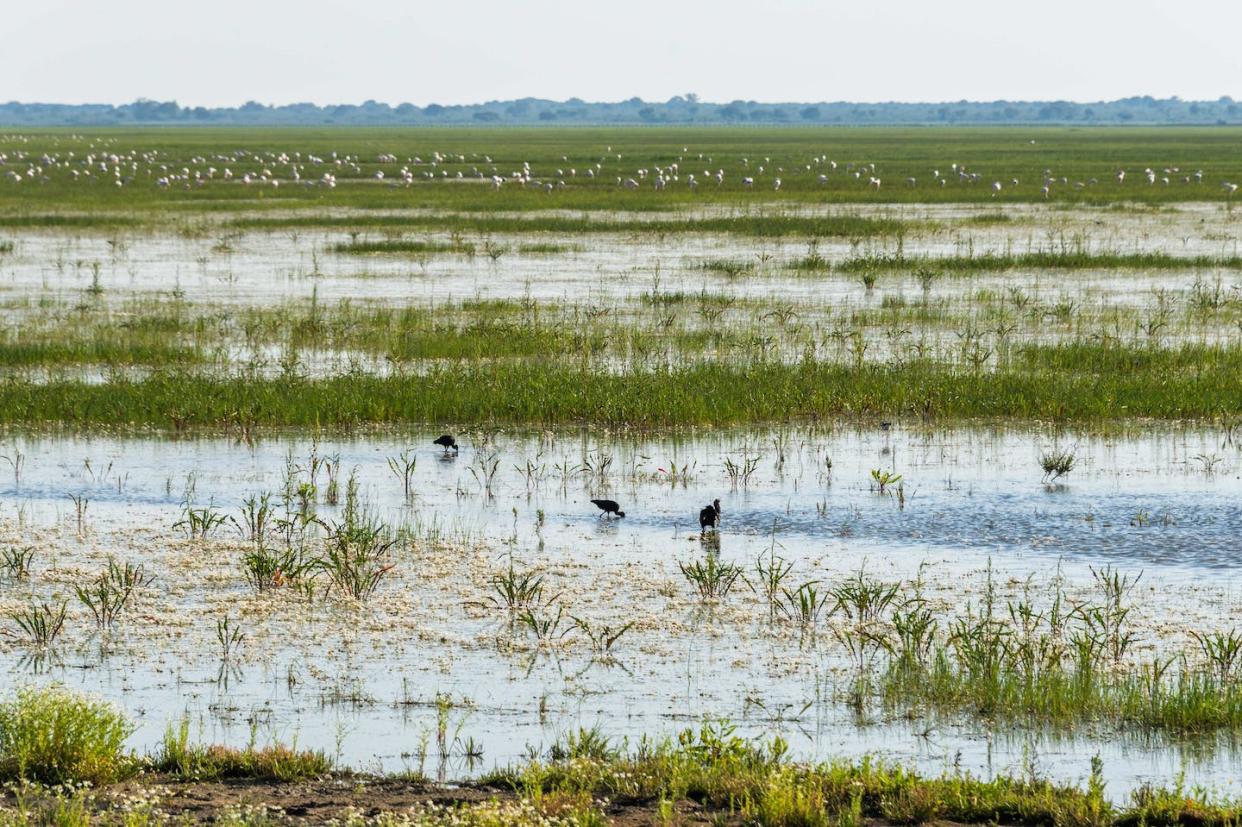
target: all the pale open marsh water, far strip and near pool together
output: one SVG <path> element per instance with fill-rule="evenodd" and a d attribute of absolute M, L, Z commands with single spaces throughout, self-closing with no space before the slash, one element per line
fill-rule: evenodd
<path fill-rule="evenodd" d="M 996 210 L 982 207 L 877 212 L 936 224 L 903 238 L 912 257 L 1059 245 L 1237 255 L 1237 217 L 1218 205 L 1133 214 L 1006 205 L 1005 220 L 991 222 L 971 221 L 995 219 Z M 419 235 L 448 241 L 447 233 Z M 807 255 L 806 240 L 570 235 L 548 238 L 560 252 L 522 253 L 522 242 L 545 238 L 515 233 L 491 237 L 505 248 L 496 260 L 334 252 L 350 238 L 225 226 L 194 236 L 7 232 L 0 314 L 20 332 L 45 303 L 72 308 L 88 291 L 93 303 L 123 309 L 127 299 L 170 296 L 212 307 L 310 297 L 591 304 L 663 289 L 779 297 L 809 314 L 930 294 L 959 302 L 968 318 L 974 296 L 1011 286 L 1112 309 L 1149 304 L 1154 289 L 1185 293 L 1222 278 L 1211 269 L 1010 271 L 946 277 L 928 289 L 904 273 L 886 274 L 872 292 L 843 273 L 809 278 L 787 267 Z M 821 240 L 815 250 L 838 263 L 891 253 L 893 243 Z M 735 278 L 704 267 L 720 260 L 754 264 L 754 272 Z M 955 341 L 954 330 L 933 333 Z M 1166 335 L 1236 334 L 1232 325 L 1186 323 Z M 1059 334 L 1041 328 L 1032 335 Z M 873 358 L 891 354 L 878 338 L 874 345 Z M 238 343 L 226 343 L 226 351 L 225 363 L 255 358 Z M 279 358 L 274 348 L 263 355 Z M 340 373 L 353 369 L 354 356 L 310 354 L 306 368 Z M 385 370 L 383 355 L 358 360 Z M 0 379 L 42 371 L 106 381 L 112 370 L 36 365 Z M 52 656 L 35 657 L 0 636 L 0 669 L 14 684 L 60 680 L 117 702 L 137 724 L 139 750 L 158 749 L 169 725 L 189 719 L 193 738 L 205 743 L 296 741 L 360 769 L 460 779 L 546 750 L 579 728 L 622 739 L 729 720 L 745 735 L 781 735 L 805 759 L 874 755 L 929 772 L 1081 781 L 1099 755 L 1113 797 L 1148 781 L 1167 786 L 1180 774 L 1189 785 L 1242 793 L 1242 751 L 1230 736 L 1015 726 L 878 703 L 858 713 L 847 699 L 850 659 L 828 627 L 807 635 L 774 623 L 746 582 L 756 581 L 760 556 L 779 555 L 794 564 L 791 584 L 830 587 L 863 571 L 918 582 L 940 610 L 961 612 L 990 591 L 1002 600 L 1045 600 L 1057 589 L 1083 597 L 1094 587 L 1093 569 L 1110 565 L 1141 574 L 1131 592 L 1135 657 L 1181 653 L 1192 631 L 1227 631 L 1242 608 L 1242 436 L 1233 428 L 854 421 L 676 433 L 508 430 L 458 435 L 460 453 L 433 446 L 436 436 L 0 436 L 0 548 L 35 553 L 30 580 L 0 582 L 0 611 L 63 600 L 70 612 Z M 1053 447 L 1073 452 L 1076 464 L 1047 481 L 1040 458 Z M 394 471 L 405 463 L 412 463 L 410 497 Z M 873 471 L 900 474 L 899 486 L 877 490 Z M 365 602 L 292 589 L 255 594 L 232 520 L 206 539 L 186 536 L 189 509 L 241 522 L 242 500 L 265 492 L 337 519 L 350 478 L 358 500 L 402 538 L 394 567 Z M 599 497 L 619 500 L 626 517 L 602 518 L 590 502 Z M 698 513 L 715 498 L 722 524 L 704 538 Z M 679 564 L 709 556 L 739 565 L 746 580 L 704 605 Z M 109 558 L 142 564 L 153 580 L 102 635 L 75 586 Z M 554 639 L 540 644 L 496 605 L 492 579 L 510 566 L 544 577 L 545 596 L 563 610 Z M 226 617 L 243 635 L 227 657 L 217 639 Z M 633 625 L 604 657 L 574 618 L 595 631 Z"/>

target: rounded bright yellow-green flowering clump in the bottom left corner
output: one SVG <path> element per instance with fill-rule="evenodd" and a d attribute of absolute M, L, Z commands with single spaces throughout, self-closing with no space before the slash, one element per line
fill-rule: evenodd
<path fill-rule="evenodd" d="M 41 784 L 107 784 L 135 761 L 133 726 L 113 705 L 52 684 L 24 687 L 0 703 L 0 777 Z"/>

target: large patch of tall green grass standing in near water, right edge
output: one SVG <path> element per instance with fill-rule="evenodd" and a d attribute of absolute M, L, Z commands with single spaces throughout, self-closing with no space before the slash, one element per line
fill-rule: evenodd
<path fill-rule="evenodd" d="M 1240 638 L 1196 632 L 1180 649 L 1138 658 L 1130 612 L 1141 574 L 1092 574 L 1086 596 L 1071 599 L 1057 577 L 1040 600 L 1027 589 L 1001 602 L 989 570 L 979 602 L 956 612 L 933 611 L 917 585 L 859 575 L 837 590 L 848 623 L 835 628 L 856 654 L 856 704 L 874 697 L 913 718 L 1031 728 L 1242 731 L 1242 687 L 1232 679 Z"/>

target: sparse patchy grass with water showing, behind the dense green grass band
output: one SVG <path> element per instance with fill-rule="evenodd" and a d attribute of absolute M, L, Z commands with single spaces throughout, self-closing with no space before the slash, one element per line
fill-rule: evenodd
<path fill-rule="evenodd" d="M 874 272 L 874 271 L 872 271 Z M 919 268 L 928 286 L 939 271 Z M 924 279 L 924 277 L 927 277 Z M 1197 284 L 1197 283 L 1196 283 Z M 1210 298 L 1196 298 L 1200 293 Z M 314 298 L 227 309 L 185 301 L 132 298 L 117 307 L 76 308 L 58 301 L 14 308 L 21 335 L 0 344 L 0 366 L 15 379 L 72 377 L 71 368 L 138 379 L 150 369 L 220 377 L 232 370 L 272 376 L 344 370 L 424 373 L 445 360 L 529 360 L 549 356 L 610 373 L 703 361 L 898 363 L 1013 366 L 1040 359 L 1211 358 L 1201 332 L 1227 343 L 1242 324 L 1242 302 L 1223 284 L 1194 287 L 1180 299 L 1156 294 L 1148 307 L 1032 297 L 980 289 L 955 299 L 910 301 L 900 287 L 878 305 L 738 296 L 728 289 L 643 291 L 616 304 L 462 301 L 432 307 Z M 1098 334 L 1109 330 L 1107 338 Z M 953 337 L 953 338 L 950 338 Z M 969 337 L 969 338 L 968 338 Z M 1196 344 L 1179 344 L 1195 341 Z M 958 346 L 956 343 L 963 346 Z M 1177 344 L 1172 346 L 1151 345 Z M 1135 348 L 1134 344 L 1143 344 Z M 1208 349 L 1213 345 L 1208 345 Z M 1041 355 L 1041 348 L 1047 348 Z M 272 354 L 278 353 L 279 359 Z M 370 364 L 368 364 L 370 363 Z M 133 369 L 133 370 L 132 370 Z"/>

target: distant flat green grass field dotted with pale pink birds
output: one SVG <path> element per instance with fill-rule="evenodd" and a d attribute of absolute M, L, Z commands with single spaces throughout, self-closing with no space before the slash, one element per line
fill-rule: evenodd
<path fill-rule="evenodd" d="M 173 212 L 237 210 L 313 210 L 323 207 L 431 209 L 443 211 L 510 211 L 539 209 L 660 211 L 698 205 L 745 207 L 754 204 L 913 204 L 1043 201 L 1046 173 L 1054 179 L 1049 200 L 1107 205 L 1225 200 L 1223 181 L 1242 180 L 1242 130 L 1235 128 L 584 128 L 584 129 L 193 129 L 144 128 L 57 129 L 10 133 L 0 138 L 5 170 L 40 173 L 22 183 L 0 180 L 0 214 L 9 221 L 68 211 Z M 24 153 L 25 155 L 19 155 Z M 73 153 L 72 158 L 70 153 Z M 440 153 L 442 160 L 435 161 Z M 41 164 L 43 155 L 53 163 Z M 118 155 L 119 164 L 107 156 Z M 380 163 L 381 154 L 395 161 Z M 89 179 L 87 156 L 106 159 Z M 322 159 L 314 163 L 310 156 Z M 344 159 L 349 159 L 344 161 Z M 420 158 L 422 163 L 410 163 Z M 342 160 L 342 164 L 337 164 Z M 836 169 L 830 161 L 837 164 Z M 542 186 L 505 184 L 491 190 L 491 175 L 509 178 L 529 164 L 533 179 L 566 185 L 553 192 Z M 594 168 L 594 178 L 586 178 Z M 656 191 L 655 170 L 678 165 L 678 180 Z M 874 169 L 872 169 L 874 164 Z M 114 185 L 114 169 L 132 179 Z M 137 165 L 137 169 L 134 168 Z M 304 186 L 324 171 L 337 186 Z M 410 186 L 392 183 L 409 166 Z M 763 171 L 760 171 L 763 166 Z M 181 170 L 207 174 L 205 186 L 168 190 L 155 185 Z M 847 171 L 847 168 L 851 171 Z M 233 173 L 224 181 L 224 170 Z M 651 175 L 637 190 L 617 178 Z M 725 173 L 720 185 L 709 178 Z M 977 173 L 963 183 L 955 169 Z M 1118 170 L 1126 170 L 1118 184 Z M 1151 169 L 1156 184 L 1148 184 Z M 78 178 L 72 171 L 79 173 Z M 246 173 L 281 181 L 279 188 L 246 185 Z M 376 171 L 385 171 L 383 181 Z M 571 174 L 571 170 L 574 171 Z M 939 170 L 948 179 L 933 180 Z M 1166 171 L 1167 170 L 1167 171 Z M 852 171 L 859 171 L 854 178 Z M 433 178 L 425 178 L 430 173 Z M 461 173 L 463 178 L 457 179 Z M 487 180 L 478 180 L 482 174 Z M 1201 181 L 1184 179 L 1201 173 Z M 687 176 L 699 179 L 689 189 Z M 820 174 L 827 175 L 821 183 Z M 868 185 L 879 178 L 881 188 Z M 753 178 L 745 185 L 744 178 Z M 781 179 L 776 191 L 775 179 Z M 915 179 L 912 185 L 908 179 Z M 1062 183 L 1064 178 L 1064 183 Z M 1169 184 L 1163 183 L 1169 178 Z M 46 180 L 43 180 L 46 179 Z M 1012 180 L 1018 184 L 1013 185 Z M 1000 181 L 1000 192 L 992 191 Z M 1079 186 L 1081 185 L 1081 186 Z M 148 217 L 150 217 L 148 215 Z M 99 217 L 98 220 L 102 220 Z M 116 221 L 117 217 L 111 219 Z"/>

